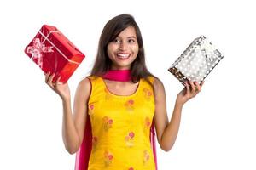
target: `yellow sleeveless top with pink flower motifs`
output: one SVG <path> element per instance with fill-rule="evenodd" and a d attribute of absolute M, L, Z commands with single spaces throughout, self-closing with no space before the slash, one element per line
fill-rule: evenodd
<path fill-rule="evenodd" d="M 154 117 L 152 86 L 140 79 L 137 91 L 117 95 L 102 77 L 88 77 L 92 148 L 88 170 L 154 170 L 150 127 Z M 154 77 L 149 77 L 154 82 Z"/>

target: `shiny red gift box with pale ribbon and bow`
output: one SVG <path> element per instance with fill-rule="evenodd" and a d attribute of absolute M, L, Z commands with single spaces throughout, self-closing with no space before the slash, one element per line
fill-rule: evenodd
<path fill-rule="evenodd" d="M 55 73 L 53 82 L 67 82 L 85 58 L 55 26 L 44 25 L 25 48 L 25 53 L 44 73 Z"/>

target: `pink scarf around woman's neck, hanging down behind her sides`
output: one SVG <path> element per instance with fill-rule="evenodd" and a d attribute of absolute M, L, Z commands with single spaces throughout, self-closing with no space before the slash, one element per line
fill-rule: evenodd
<path fill-rule="evenodd" d="M 131 71 L 130 70 L 110 70 L 103 76 L 103 78 L 119 81 L 119 82 L 126 82 L 131 80 Z M 150 139 L 151 148 L 153 149 L 155 169 L 157 170 L 154 122 L 152 122 L 152 125 L 150 127 L 149 139 Z M 88 170 L 90 151 L 92 148 L 91 141 L 92 141 L 92 134 L 91 134 L 90 117 L 87 116 L 86 126 L 84 129 L 84 139 L 79 150 L 76 153 L 75 170 Z"/>

